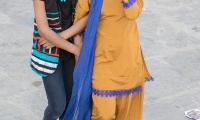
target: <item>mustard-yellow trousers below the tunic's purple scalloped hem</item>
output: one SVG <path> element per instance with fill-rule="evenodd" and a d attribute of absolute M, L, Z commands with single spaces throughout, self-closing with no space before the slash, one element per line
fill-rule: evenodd
<path fill-rule="evenodd" d="M 101 97 L 93 94 L 91 120 L 142 120 L 144 82 L 142 89 L 126 96 Z"/>

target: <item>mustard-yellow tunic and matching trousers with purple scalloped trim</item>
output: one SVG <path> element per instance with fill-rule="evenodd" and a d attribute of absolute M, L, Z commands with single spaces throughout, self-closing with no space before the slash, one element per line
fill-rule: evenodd
<path fill-rule="evenodd" d="M 143 0 L 128 8 L 122 0 L 103 0 L 92 75 L 91 120 L 142 120 L 144 82 L 151 78 L 136 24 L 142 7 Z M 75 22 L 89 10 L 90 0 L 78 0 Z"/>

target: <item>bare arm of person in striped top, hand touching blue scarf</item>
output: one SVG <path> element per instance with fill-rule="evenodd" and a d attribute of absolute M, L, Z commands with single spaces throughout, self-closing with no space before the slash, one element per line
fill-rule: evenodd
<path fill-rule="evenodd" d="M 40 35 L 53 45 L 62 48 L 66 51 L 69 51 L 75 54 L 76 56 L 79 56 L 80 46 L 76 46 L 66 41 L 64 38 L 60 37 L 49 28 L 44 2 L 40 0 L 34 0 L 33 5 L 34 5 L 35 19 L 37 22 Z"/>

